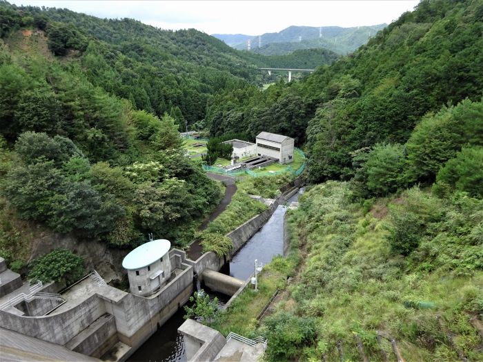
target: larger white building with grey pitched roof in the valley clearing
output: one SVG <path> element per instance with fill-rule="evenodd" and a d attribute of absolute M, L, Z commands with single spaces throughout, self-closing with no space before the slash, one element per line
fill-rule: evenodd
<path fill-rule="evenodd" d="M 258 156 L 278 159 L 279 163 L 293 161 L 294 139 L 270 132 L 260 132 L 257 136 Z"/>

